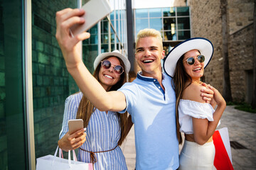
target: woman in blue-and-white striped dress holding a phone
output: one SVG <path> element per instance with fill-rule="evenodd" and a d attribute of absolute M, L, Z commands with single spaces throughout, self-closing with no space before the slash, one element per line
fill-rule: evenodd
<path fill-rule="evenodd" d="M 116 91 L 127 80 L 130 63 L 115 50 L 97 56 L 94 67 L 93 76 L 104 89 Z M 68 120 L 75 118 L 84 120 L 86 134 L 84 130 L 68 133 Z M 79 147 L 78 161 L 92 162 L 94 169 L 127 169 L 124 154 L 119 147 L 129 132 L 127 120 L 127 113 L 100 111 L 82 95 L 82 92 L 78 92 L 65 101 L 63 127 L 58 145 L 65 151 Z M 129 122 L 129 125 L 131 124 Z"/>

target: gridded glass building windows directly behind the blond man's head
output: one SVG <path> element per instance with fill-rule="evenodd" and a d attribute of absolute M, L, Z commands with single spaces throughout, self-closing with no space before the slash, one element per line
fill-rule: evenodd
<path fill-rule="evenodd" d="M 134 9 L 134 38 L 139 30 L 154 28 L 161 32 L 164 42 L 191 38 L 190 11 L 188 6 L 169 8 Z"/>

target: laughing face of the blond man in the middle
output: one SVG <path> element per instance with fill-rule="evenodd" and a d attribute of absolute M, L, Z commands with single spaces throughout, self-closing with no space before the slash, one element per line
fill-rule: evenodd
<path fill-rule="evenodd" d="M 142 75 L 151 77 L 156 72 L 161 72 L 161 59 L 164 59 L 164 50 L 155 37 L 140 38 L 137 41 L 135 58 Z"/>

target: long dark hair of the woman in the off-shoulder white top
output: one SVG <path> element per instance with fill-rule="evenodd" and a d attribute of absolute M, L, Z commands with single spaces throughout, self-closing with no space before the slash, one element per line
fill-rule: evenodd
<path fill-rule="evenodd" d="M 184 54 L 185 55 L 185 54 Z M 183 66 L 183 58 L 184 55 L 182 55 L 177 64 L 176 69 L 174 72 L 174 77 L 171 81 L 171 84 L 174 88 L 175 94 L 176 94 L 176 132 L 178 137 L 178 143 L 181 144 L 182 138 L 181 138 L 181 132 L 180 132 L 180 125 L 178 123 L 178 103 L 181 100 L 182 93 L 186 87 L 188 87 L 192 83 L 191 77 L 186 73 L 185 68 Z M 186 85 L 186 82 L 190 82 L 188 85 Z"/>

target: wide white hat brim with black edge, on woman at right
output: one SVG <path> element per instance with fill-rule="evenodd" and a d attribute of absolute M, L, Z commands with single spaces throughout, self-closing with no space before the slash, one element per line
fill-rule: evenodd
<path fill-rule="evenodd" d="M 174 72 L 178 59 L 190 50 L 199 50 L 205 56 L 204 68 L 213 57 L 213 44 L 206 38 L 190 38 L 176 45 L 164 60 L 164 72 L 170 77 L 174 77 Z"/>

